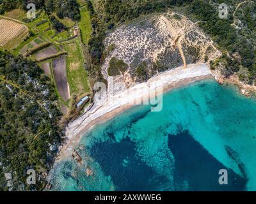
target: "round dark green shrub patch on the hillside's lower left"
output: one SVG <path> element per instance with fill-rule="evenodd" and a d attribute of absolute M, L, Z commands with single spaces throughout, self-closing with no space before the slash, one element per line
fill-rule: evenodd
<path fill-rule="evenodd" d="M 125 64 L 122 59 L 116 59 L 115 57 L 112 57 L 109 62 L 109 68 L 108 68 L 108 75 L 109 76 L 116 76 L 120 75 L 121 73 L 124 73 L 128 69 L 128 65 Z"/>

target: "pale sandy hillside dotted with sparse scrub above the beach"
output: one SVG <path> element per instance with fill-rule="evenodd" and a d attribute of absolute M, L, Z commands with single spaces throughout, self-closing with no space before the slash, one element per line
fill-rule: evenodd
<path fill-rule="evenodd" d="M 107 34 L 104 46 L 112 49 L 102 66 L 104 78 L 114 77 L 115 82 L 125 82 L 127 87 L 145 82 L 161 71 L 186 68 L 187 64 L 209 62 L 221 56 L 211 38 L 188 18 L 174 12 L 120 25 Z M 126 65 L 123 70 L 121 62 Z"/>

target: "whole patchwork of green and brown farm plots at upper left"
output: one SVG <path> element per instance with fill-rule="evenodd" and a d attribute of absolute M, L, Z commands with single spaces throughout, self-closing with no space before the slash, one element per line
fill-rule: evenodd
<path fill-rule="evenodd" d="M 16 15 L 16 13 L 20 14 Z M 70 92 L 76 94 L 77 97 L 81 97 L 90 92 L 88 76 L 84 69 L 81 41 L 79 38 L 66 41 L 73 35 L 76 22 L 69 18 L 60 19 L 54 14 L 60 22 L 68 27 L 68 31 L 56 33 L 49 20 L 49 15 L 44 11 L 38 13 L 35 19 L 24 23 L 24 25 L 22 22 L 19 23 L 19 20 L 22 21 L 23 18 L 26 18 L 22 10 L 8 11 L 4 15 L 5 17 L 1 20 L 0 25 L 8 27 L 7 22 L 8 24 L 12 24 L 10 31 L 15 31 L 13 38 L 19 38 L 23 30 L 27 31 L 26 34 L 29 33 L 28 31 L 31 31 L 31 34 L 26 40 L 23 41 L 22 38 L 22 41 L 16 43 L 18 46 L 15 47 L 12 52 L 22 54 L 24 57 L 29 57 L 40 64 L 45 75 L 50 77 L 56 86 L 56 93 L 58 93 L 60 98 L 62 112 L 64 114 L 67 113 Z M 92 25 L 90 13 L 85 6 L 81 8 L 81 15 L 82 19 L 79 21 L 79 27 L 83 31 L 81 38 L 83 38 L 84 44 L 87 44 L 92 35 Z M 16 27 L 14 25 L 16 25 Z M 3 29 L 2 27 L 0 27 L 0 32 L 4 29 L 4 27 Z M 13 43 L 13 38 L 11 38 L 12 36 L 10 36 L 8 32 L 8 29 L 5 29 L 4 33 L 1 32 L 0 40 L 1 36 L 3 36 L 3 38 L 6 36 L 10 38 L 10 42 Z M 5 43 L 4 39 L 2 43 Z M 28 55 L 31 49 L 40 46 L 41 43 L 51 43 L 51 45 L 40 48 L 36 50 L 36 52 L 33 52 L 33 54 Z M 2 45 L 0 44 L 0 46 Z M 4 48 L 6 48 L 6 46 Z M 67 57 L 64 56 L 64 54 L 67 54 Z"/>

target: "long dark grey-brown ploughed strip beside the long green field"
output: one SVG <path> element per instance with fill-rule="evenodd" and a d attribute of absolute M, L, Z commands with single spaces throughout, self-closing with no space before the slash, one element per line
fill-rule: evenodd
<path fill-rule="evenodd" d="M 64 101 L 70 98 L 68 89 L 65 57 L 52 60 L 52 71 L 58 92 Z"/>

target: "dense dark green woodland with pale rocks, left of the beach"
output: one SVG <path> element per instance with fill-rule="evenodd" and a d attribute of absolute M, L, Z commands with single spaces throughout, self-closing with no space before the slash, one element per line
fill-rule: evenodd
<path fill-rule="evenodd" d="M 51 80 L 33 61 L 0 51 L 0 189 L 6 190 L 4 173 L 12 173 L 13 189 L 24 190 L 26 171 L 37 179 L 51 168 L 61 142 Z M 34 189 L 44 186 L 37 180 Z"/>

